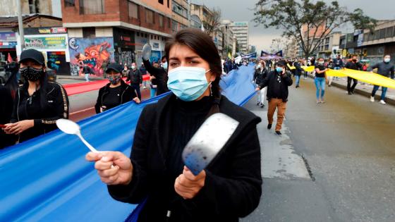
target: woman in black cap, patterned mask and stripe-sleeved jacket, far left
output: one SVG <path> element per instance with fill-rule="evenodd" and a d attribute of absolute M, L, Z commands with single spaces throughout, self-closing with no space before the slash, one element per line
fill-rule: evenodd
<path fill-rule="evenodd" d="M 68 118 L 66 91 L 56 82 L 48 82 L 44 56 L 35 49 L 20 54 L 20 75 L 25 84 L 19 87 L 11 116 L 4 132 L 18 135 L 18 142 L 56 129 L 56 120 Z"/>

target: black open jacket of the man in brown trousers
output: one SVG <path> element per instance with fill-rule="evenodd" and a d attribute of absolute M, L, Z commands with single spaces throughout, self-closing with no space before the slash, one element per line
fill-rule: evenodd
<path fill-rule="evenodd" d="M 278 99 L 283 99 L 283 101 L 288 101 L 288 86 L 292 85 L 292 78 L 291 78 L 291 73 L 286 72 L 283 77 L 280 77 L 280 81 L 277 81 L 279 77 L 279 74 L 277 73 L 277 70 L 274 70 L 267 74 L 267 78 L 263 80 L 263 82 L 259 85 L 259 87 L 262 89 L 263 87 L 267 87 L 267 100 L 270 101 L 270 99 L 274 98 L 274 94 L 278 92 L 274 92 L 276 89 L 275 85 L 280 85 L 280 90 L 281 90 L 281 98 Z"/>

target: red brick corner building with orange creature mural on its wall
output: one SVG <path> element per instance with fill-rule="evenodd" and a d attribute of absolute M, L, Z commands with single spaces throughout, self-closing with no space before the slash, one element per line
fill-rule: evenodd
<path fill-rule="evenodd" d="M 72 75 L 78 75 L 83 63 L 99 76 L 114 61 L 140 66 L 145 43 L 152 46 L 150 61 L 164 56 L 173 27 L 171 0 L 67 0 L 61 4 Z"/>

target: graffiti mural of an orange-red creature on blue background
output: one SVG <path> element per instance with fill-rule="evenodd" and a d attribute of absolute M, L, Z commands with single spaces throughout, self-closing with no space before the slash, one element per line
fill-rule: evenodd
<path fill-rule="evenodd" d="M 108 63 L 114 62 L 114 39 L 112 37 L 97 37 L 92 39 L 68 39 L 70 51 L 71 75 L 83 75 L 83 64 L 87 64 L 102 76 Z"/>

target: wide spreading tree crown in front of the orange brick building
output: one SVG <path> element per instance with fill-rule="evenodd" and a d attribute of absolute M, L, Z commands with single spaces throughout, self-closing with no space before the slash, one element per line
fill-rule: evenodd
<path fill-rule="evenodd" d="M 365 16 L 360 8 L 348 12 L 337 1 L 259 0 L 254 21 L 265 27 L 283 29 L 283 37 L 294 37 L 308 58 L 341 25 L 351 24 L 356 30 L 374 29 L 377 20 Z"/>

